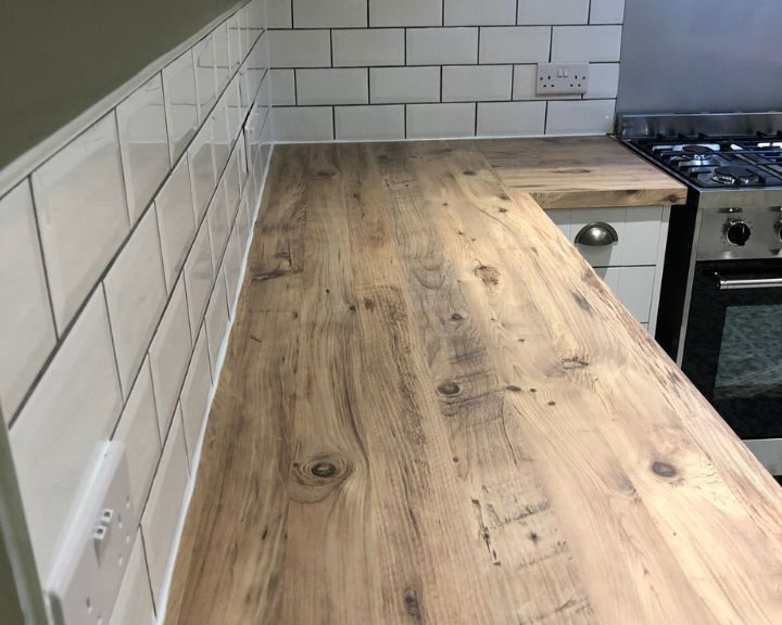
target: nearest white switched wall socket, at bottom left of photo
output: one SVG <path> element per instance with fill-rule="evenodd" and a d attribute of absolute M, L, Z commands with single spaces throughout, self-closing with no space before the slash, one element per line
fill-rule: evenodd
<path fill-rule="evenodd" d="M 108 625 L 138 527 L 125 448 L 105 443 L 70 518 L 47 595 L 55 625 Z"/>

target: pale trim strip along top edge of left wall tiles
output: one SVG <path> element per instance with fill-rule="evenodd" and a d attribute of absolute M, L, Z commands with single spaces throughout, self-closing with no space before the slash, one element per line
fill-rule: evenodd
<path fill-rule="evenodd" d="M 192 48 L 219 24 L 225 22 L 239 9 L 248 4 L 249 1 L 250 0 L 239 0 L 229 9 L 223 11 L 223 13 L 209 22 L 203 28 L 197 30 L 194 35 L 188 37 L 164 54 L 161 54 L 157 59 L 136 73 L 133 78 L 126 80 L 114 91 L 98 100 L 89 109 L 80 113 L 77 117 L 74 117 L 62 128 L 59 128 L 49 135 L 46 139 L 36 143 L 33 148 L 27 150 L 27 152 L 24 152 L 11 161 L 11 163 L 0 169 L 0 196 L 5 195 L 5 193 L 11 191 L 11 189 L 13 189 L 20 180 L 29 176 L 41 163 L 53 156 L 81 132 L 87 130 L 87 128 L 92 126 L 92 124 L 98 122 L 98 119 L 103 117 L 106 114 L 106 111 L 116 109 L 123 100 L 136 91 L 136 89 L 141 87 L 141 85 L 147 82 L 151 76 L 161 72 L 163 67 L 168 65 L 168 63 Z"/>

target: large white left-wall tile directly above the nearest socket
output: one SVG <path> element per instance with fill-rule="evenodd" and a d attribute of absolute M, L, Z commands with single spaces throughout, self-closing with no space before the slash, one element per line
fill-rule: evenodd
<path fill-rule="evenodd" d="M 38 573 L 47 579 L 83 477 L 123 401 L 98 289 L 11 428 L 16 477 Z"/>

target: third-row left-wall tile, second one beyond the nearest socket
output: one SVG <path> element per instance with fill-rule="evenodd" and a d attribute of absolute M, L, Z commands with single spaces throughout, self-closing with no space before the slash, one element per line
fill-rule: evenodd
<path fill-rule="evenodd" d="M 157 430 L 165 441 L 192 353 L 185 278 L 172 293 L 168 307 L 150 346 L 150 369 L 157 407 Z"/>

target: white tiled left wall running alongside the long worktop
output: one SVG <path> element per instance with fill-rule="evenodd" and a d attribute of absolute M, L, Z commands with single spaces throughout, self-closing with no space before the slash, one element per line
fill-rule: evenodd
<path fill-rule="evenodd" d="M 45 586 L 96 450 L 125 444 L 112 625 L 165 598 L 270 157 L 265 17 L 194 36 L 0 196 L 0 407 Z"/>

